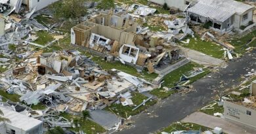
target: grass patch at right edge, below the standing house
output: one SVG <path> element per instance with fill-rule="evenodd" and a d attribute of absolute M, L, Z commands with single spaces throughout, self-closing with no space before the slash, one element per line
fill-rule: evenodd
<path fill-rule="evenodd" d="M 230 40 L 230 44 L 232 44 L 235 47 L 234 50 L 236 52 L 243 54 L 244 52 L 246 52 L 246 48 L 256 47 L 256 40 L 251 42 L 251 44 L 245 46 L 245 44 L 250 42 L 251 39 L 253 39 L 254 37 L 256 37 L 256 29 L 251 31 L 250 33 L 247 33 L 247 35 L 237 35 L 236 37 Z"/>

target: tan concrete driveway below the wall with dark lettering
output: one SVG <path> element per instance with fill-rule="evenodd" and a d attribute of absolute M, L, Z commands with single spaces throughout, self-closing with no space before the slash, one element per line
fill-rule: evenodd
<path fill-rule="evenodd" d="M 253 134 L 254 129 L 250 129 L 244 126 L 239 126 L 228 122 L 222 118 L 207 115 L 203 112 L 194 112 L 182 120 L 182 122 L 191 122 L 214 129 L 215 127 L 221 127 L 225 133 L 228 134 Z"/>

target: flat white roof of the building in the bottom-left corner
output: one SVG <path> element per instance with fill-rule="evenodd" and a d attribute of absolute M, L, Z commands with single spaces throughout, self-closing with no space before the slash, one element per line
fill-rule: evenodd
<path fill-rule="evenodd" d="M 22 129 L 24 131 L 28 131 L 33 129 L 33 127 L 39 126 L 43 124 L 40 120 L 35 118 L 30 118 L 24 114 L 20 114 L 19 112 L 15 112 L 13 110 L 6 109 L 4 107 L 0 107 L 4 114 L 4 118 L 8 118 L 11 122 L 7 122 L 10 126 Z"/>

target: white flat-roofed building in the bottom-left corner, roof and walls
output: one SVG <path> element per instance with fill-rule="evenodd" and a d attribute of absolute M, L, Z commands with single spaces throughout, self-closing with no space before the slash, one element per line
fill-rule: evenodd
<path fill-rule="evenodd" d="M 1 134 L 42 134 L 43 122 L 19 112 L 0 107 L 4 118 L 11 122 L 0 122 Z"/>

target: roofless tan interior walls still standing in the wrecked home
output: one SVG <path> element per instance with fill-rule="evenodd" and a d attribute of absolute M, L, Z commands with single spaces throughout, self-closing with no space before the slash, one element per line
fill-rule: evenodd
<path fill-rule="evenodd" d="M 119 44 L 131 44 L 135 41 L 136 29 L 137 24 L 131 22 L 129 18 L 117 14 L 100 14 L 87 22 L 72 27 L 71 43 L 93 49 L 97 47 L 94 42 L 101 42 L 102 46 L 110 45 L 107 39 L 117 41 Z M 96 35 L 93 37 L 94 42 L 89 44 L 93 33 Z"/>

